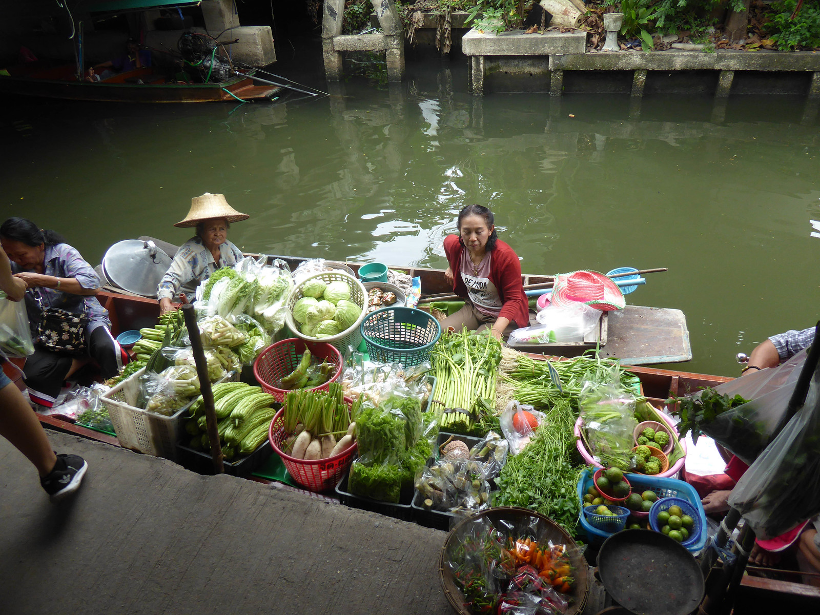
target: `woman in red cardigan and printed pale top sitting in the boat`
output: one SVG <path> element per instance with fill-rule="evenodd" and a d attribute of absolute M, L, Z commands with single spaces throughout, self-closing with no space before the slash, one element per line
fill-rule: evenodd
<path fill-rule="evenodd" d="M 453 292 L 466 302 L 441 323 L 460 331 L 485 330 L 497 339 L 529 326 L 529 303 L 521 279 L 521 263 L 512 248 L 499 239 L 494 216 L 487 207 L 467 205 L 458 214 L 458 235 L 444 238 L 449 267 L 444 275 Z"/>

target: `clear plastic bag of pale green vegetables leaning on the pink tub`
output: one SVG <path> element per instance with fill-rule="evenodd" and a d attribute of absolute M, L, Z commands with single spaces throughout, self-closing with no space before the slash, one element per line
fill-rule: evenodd
<path fill-rule="evenodd" d="M 587 381 L 579 394 L 586 444 L 595 462 L 603 467 L 633 467 L 635 399 L 620 386 Z"/>

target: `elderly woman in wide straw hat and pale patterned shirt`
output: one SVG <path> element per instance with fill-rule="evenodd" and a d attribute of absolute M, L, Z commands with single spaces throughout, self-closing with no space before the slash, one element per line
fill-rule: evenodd
<path fill-rule="evenodd" d="M 171 266 L 157 287 L 160 311 L 171 312 L 171 300 L 181 292 L 192 292 L 199 282 L 223 266 L 234 266 L 242 253 L 228 241 L 231 222 L 247 220 L 250 216 L 237 212 L 225 201 L 224 194 L 206 192 L 191 199 L 191 209 L 185 220 L 175 226 L 195 226 L 197 234 L 176 251 Z"/>

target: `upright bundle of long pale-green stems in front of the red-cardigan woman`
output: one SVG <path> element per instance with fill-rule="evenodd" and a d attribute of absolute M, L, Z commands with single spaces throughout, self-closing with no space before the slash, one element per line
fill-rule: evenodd
<path fill-rule="evenodd" d="M 435 401 L 444 431 L 469 434 L 483 408 L 492 408 L 501 362 L 501 342 L 489 332 L 444 333 L 431 354 L 437 379 Z"/>

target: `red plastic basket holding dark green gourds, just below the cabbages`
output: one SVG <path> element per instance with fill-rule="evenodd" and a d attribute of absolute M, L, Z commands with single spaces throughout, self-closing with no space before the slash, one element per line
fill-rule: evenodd
<path fill-rule="evenodd" d="M 256 376 L 259 384 L 262 385 L 262 390 L 273 395 L 277 402 L 282 403 L 285 401 L 285 395 L 289 391 L 287 389 L 278 389 L 276 385 L 279 385 L 283 377 L 296 369 L 299 364 L 299 357 L 304 353 L 306 347 L 318 361 L 327 360 L 335 367 L 330 380 L 324 385 L 309 390 L 326 391 L 328 385 L 335 380 L 339 380 L 339 376 L 342 375 L 344 365 L 342 355 L 330 344 L 306 342 L 295 337 L 283 339 L 262 350 L 257 360 L 253 362 L 253 376 Z"/>

